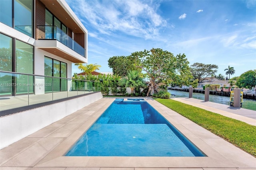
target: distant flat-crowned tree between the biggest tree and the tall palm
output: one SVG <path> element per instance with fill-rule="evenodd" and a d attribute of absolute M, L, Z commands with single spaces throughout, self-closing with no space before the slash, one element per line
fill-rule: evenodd
<path fill-rule="evenodd" d="M 218 71 L 217 69 L 218 65 L 214 64 L 194 63 L 190 66 L 190 71 L 194 79 L 198 79 L 199 82 L 202 82 L 211 75 L 215 75 Z"/>

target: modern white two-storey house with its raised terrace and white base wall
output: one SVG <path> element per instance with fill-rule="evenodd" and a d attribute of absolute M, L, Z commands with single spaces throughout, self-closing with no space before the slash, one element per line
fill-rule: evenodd
<path fill-rule="evenodd" d="M 0 148 L 102 98 L 94 83 L 83 91 L 72 80 L 87 47 L 64 0 L 0 0 Z"/>

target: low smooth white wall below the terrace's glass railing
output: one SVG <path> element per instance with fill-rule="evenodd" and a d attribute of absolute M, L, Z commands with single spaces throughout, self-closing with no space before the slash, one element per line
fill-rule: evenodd
<path fill-rule="evenodd" d="M 0 117 L 0 149 L 102 98 L 101 92 Z"/>

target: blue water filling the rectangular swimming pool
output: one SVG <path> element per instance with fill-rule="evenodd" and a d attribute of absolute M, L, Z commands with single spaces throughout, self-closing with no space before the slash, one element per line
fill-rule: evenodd
<path fill-rule="evenodd" d="M 116 99 L 66 156 L 206 156 L 146 101 Z"/>

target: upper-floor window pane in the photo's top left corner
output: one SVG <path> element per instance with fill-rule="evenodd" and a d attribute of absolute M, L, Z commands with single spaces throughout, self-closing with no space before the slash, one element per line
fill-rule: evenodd
<path fill-rule="evenodd" d="M 12 0 L 0 0 L 0 22 L 12 27 Z"/>

